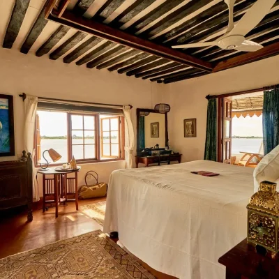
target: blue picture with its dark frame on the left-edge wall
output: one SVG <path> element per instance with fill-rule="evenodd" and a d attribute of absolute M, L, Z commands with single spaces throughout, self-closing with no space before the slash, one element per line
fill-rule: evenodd
<path fill-rule="evenodd" d="M 0 156 L 15 156 L 13 96 L 0 94 Z"/>

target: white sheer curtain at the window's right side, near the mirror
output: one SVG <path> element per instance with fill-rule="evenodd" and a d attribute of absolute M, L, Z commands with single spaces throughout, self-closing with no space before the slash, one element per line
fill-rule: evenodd
<path fill-rule="evenodd" d="M 125 116 L 125 160 L 126 169 L 133 168 L 133 150 L 135 146 L 135 133 L 130 117 L 130 105 L 123 105 Z"/>

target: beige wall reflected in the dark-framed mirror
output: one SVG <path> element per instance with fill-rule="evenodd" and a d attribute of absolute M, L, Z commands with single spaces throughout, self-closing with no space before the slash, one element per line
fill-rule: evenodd
<path fill-rule="evenodd" d="M 151 123 L 159 123 L 159 137 L 151 137 Z M 165 147 L 165 114 L 150 113 L 144 119 L 145 147 L 153 147 L 159 144 L 160 148 Z"/>

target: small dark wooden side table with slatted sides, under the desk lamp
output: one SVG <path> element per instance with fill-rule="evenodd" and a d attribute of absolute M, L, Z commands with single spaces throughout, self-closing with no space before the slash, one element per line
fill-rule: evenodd
<path fill-rule="evenodd" d="M 72 171 L 56 171 L 54 168 L 49 168 L 47 171 L 39 170 L 39 174 L 43 174 L 43 212 L 45 212 L 45 203 L 55 203 L 55 217 L 58 217 L 58 206 L 61 202 L 75 201 L 75 207 L 78 210 L 77 198 L 77 173 L 81 167 L 77 167 Z M 68 174 L 75 174 L 75 177 L 67 177 Z M 46 177 L 53 175 L 53 178 Z M 68 199 L 69 194 L 75 194 L 75 199 Z M 52 197 L 53 199 L 46 199 Z"/>

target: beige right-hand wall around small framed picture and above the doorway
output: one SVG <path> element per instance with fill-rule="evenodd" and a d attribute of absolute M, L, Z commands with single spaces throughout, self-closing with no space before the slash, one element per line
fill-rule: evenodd
<path fill-rule="evenodd" d="M 204 158 L 206 95 L 232 93 L 279 84 L 279 56 L 167 86 L 164 100 L 172 107 L 168 114 L 169 144 L 183 154 L 182 161 Z M 183 119 L 197 119 L 197 137 L 183 135 Z"/>

